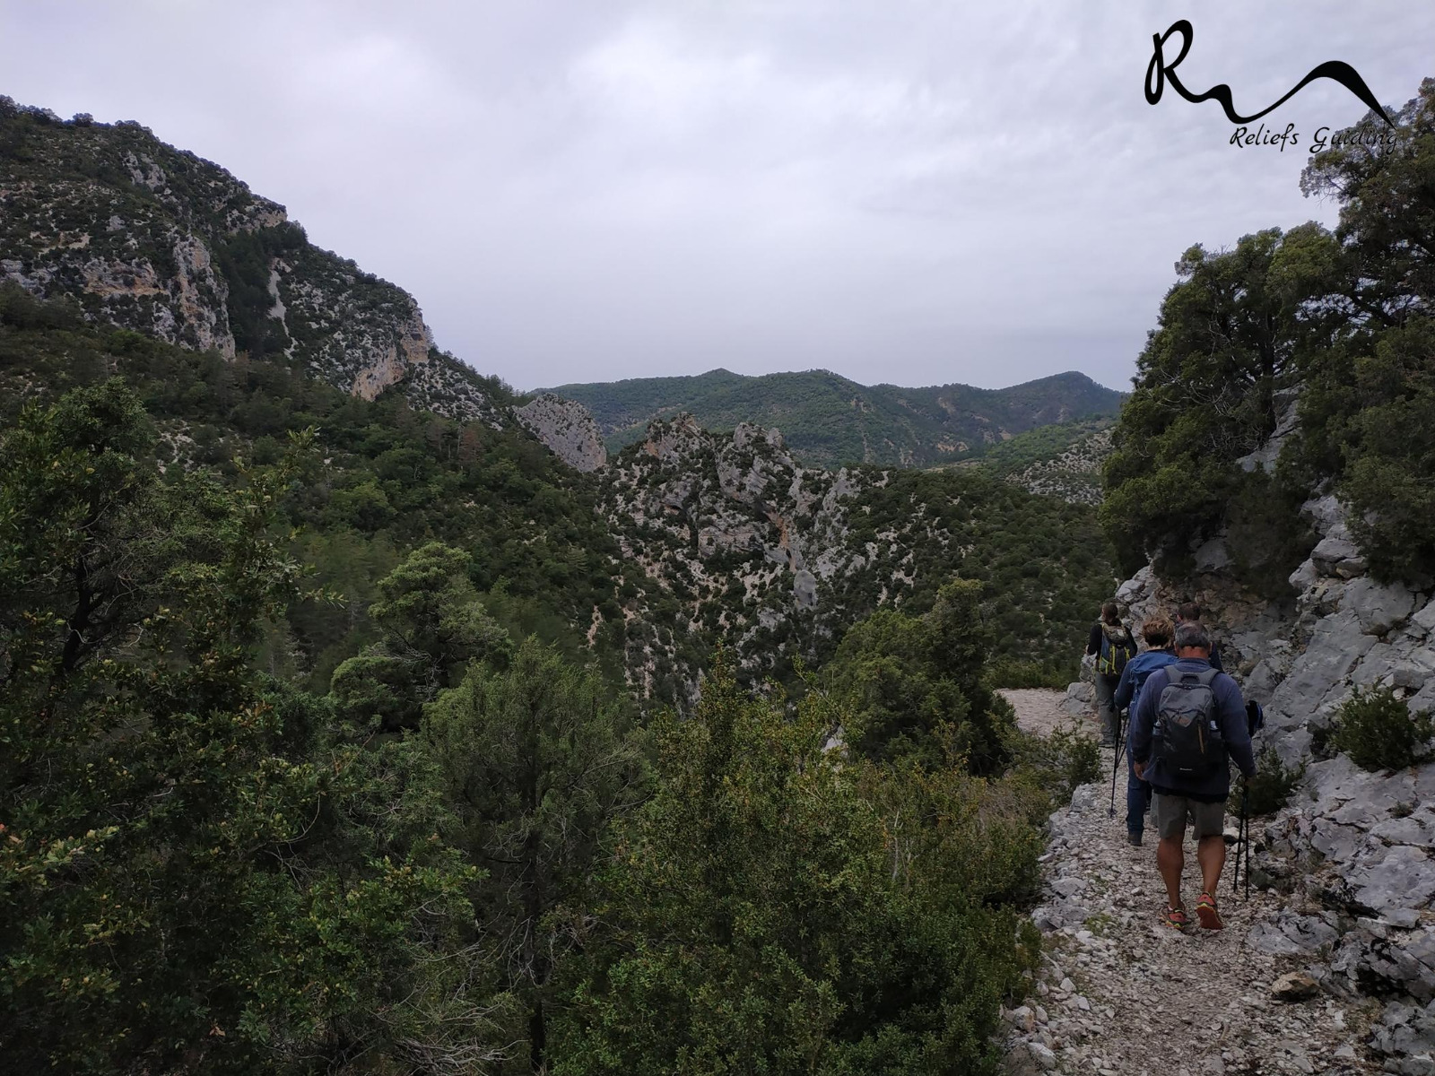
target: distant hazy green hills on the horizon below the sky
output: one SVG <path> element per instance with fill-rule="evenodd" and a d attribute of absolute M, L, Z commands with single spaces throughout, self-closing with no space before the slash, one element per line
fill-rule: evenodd
<path fill-rule="evenodd" d="M 593 412 L 614 452 L 639 440 L 653 419 L 687 412 L 706 429 L 732 429 L 739 422 L 776 426 L 792 452 L 815 466 L 931 466 L 971 459 L 1038 426 L 1114 416 L 1124 399 L 1076 372 L 1009 389 L 903 389 L 858 384 L 828 370 L 761 377 L 709 370 L 690 377 L 560 384 L 548 392 Z"/>

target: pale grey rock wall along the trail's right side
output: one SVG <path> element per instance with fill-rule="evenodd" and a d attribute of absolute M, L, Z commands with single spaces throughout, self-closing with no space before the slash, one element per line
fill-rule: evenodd
<path fill-rule="evenodd" d="M 1195 582 L 1225 667 L 1266 707 L 1257 747 L 1306 766 L 1292 803 L 1254 826 L 1254 877 L 1286 902 L 1247 941 L 1302 955 L 1326 991 L 1386 1000 L 1369 1049 L 1388 1072 L 1435 1072 L 1435 762 L 1370 773 L 1320 737 L 1358 689 L 1435 707 L 1435 595 L 1366 577 L 1336 498 L 1302 511 L 1320 541 L 1290 577 L 1293 607 L 1244 593 L 1218 557 Z M 1148 568 L 1118 600 L 1139 620 L 1187 593 Z"/>

